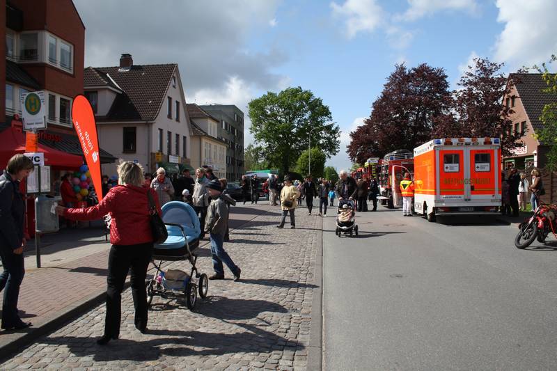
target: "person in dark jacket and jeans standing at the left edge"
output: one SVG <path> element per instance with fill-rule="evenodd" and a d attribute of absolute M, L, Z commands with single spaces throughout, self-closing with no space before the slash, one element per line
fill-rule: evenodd
<path fill-rule="evenodd" d="M 0 274 L 0 291 L 4 291 L 1 328 L 23 329 L 31 326 L 19 318 L 17 299 L 19 286 L 25 274 L 23 237 L 25 203 L 19 193 L 19 181 L 33 170 L 33 162 L 22 154 L 8 161 L 6 171 L 0 176 L 0 258 L 3 272 Z"/>

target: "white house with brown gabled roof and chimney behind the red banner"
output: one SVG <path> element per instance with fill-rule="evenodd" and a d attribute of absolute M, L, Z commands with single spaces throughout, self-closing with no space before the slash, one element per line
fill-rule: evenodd
<path fill-rule="evenodd" d="M 178 173 L 190 166 L 191 125 L 178 64 L 88 67 L 84 92 L 95 113 L 99 142 L 114 156 L 136 161 L 146 171 Z M 116 175 L 117 164 L 103 165 Z"/>

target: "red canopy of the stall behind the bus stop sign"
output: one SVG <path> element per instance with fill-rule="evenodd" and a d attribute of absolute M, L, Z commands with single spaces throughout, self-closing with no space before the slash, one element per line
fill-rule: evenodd
<path fill-rule="evenodd" d="M 83 164 L 81 156 L 55 150 L 47 145 L 38 144 L 38 152 L 45 154 L 45 165 L 64 168 L 79 168 Z M 25 152 L 25 133 L 14 127 L 8 127 L 0 133 L 0 169 L 6 168 L 10 157 L 16 153 Z"/>

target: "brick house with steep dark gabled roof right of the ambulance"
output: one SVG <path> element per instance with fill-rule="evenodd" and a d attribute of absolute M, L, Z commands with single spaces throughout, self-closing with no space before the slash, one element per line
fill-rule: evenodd
<path fill-rule="evenodd" d="M 503 97 L 503 103 L 514 113 L 510 116 L 512 124 L 508 133 L 514 132 L 521 136 L 524 143 L 516 148 L 513 154 L 503 159 L 505 168 L 544 168 L 547 161 L 547 145 L 536 139 L 543 129 L 540 121 L 544 106 L 557 102 L 557 96 L 544 93 L 547 84 L 539 73 L 515 73 L 509 75 L 510 93 Z"/>

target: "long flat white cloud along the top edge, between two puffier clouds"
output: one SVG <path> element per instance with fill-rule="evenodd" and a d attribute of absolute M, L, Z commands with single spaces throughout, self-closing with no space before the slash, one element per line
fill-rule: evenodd
<path fill-rule="evenodd" d="M 395 15 L 395 20 L 415 21 L 443 10 L 459 10 L 476 13 L 476 0 L 407 0 L 409 8 L 402 15 Z"/>

